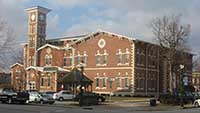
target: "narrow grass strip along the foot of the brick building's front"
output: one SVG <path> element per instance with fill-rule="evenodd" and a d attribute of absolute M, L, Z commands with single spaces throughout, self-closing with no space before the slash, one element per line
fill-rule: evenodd
<path fill-rule="evenodd" d="M 118 97 L 118 96 L 106 96 L 106 101 L 146 101 L 150 97 Z"/>

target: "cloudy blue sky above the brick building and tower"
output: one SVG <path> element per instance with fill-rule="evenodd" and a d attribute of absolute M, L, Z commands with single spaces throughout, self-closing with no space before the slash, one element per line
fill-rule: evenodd
<path fill-rule="evenodd" d="M 103 29 L 145 41 L 152 41 L 149 22 L 171 13 L 182 14 L 191 24 L 190 45 L 200 52 L 200 0 L 0 0 L 0 18 L 16 32 L 17 43 L 27 41 L 26 8 L 51 9 L 47 38 L 80 35 Z"/>

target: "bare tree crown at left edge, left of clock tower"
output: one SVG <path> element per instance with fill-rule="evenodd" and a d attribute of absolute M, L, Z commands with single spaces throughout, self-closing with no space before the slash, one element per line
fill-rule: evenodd
<path fill-rule="evenodd" d="M 0 71 L 10 66 L 8 56 L 15 45 L 14 37 L 13 29 L 0 17 Z"/>

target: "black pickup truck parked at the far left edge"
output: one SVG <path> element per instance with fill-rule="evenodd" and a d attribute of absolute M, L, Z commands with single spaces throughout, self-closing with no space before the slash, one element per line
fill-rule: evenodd
<path fill-rule="evenodd" d="M 25 104 L 29 100 L 29 94 L 25 91 L 16 92 L 12 88 L 0 88 L 0 101 L 2 103 L 19 102 Z"/>

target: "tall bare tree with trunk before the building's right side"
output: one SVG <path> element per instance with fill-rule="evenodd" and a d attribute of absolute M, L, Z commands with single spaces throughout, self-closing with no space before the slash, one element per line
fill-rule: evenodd
<path fill-rule="evenodd" d="M 163 48 L 162 56 L 167 59 L 169 71 L 169 91 L 173 94 L 173 65 L 177 63 L 177 52 L 188 52 L 188 36 L 190 25 L 182 25 L 180 15 L 169 15 L 152 20 L 150 28 L 156 42 Z M 163 52 L 164 51 L 164 52 Z M 179 55 L 181 56 L 181 55 Z"/>

